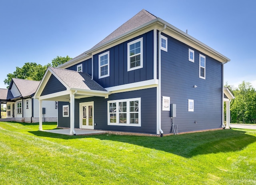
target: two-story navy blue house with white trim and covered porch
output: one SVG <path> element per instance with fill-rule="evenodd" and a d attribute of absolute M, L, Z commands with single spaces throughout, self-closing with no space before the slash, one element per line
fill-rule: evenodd
<path fill-rule="evenodd" d="M 58 101 L 58 127 L 70 127 L 70 135 L 74 128 L 156 135 L 221 129 L 229 61 L 142 10 L 90 50 L 49 67 L 35 97 L 39 110 L 42 100 Z"/>

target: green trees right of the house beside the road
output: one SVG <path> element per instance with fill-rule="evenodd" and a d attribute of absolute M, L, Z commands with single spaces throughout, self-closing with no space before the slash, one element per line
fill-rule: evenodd
<path fill-rule="evenodd" d="M 256 123 L 256 91 L 250 82 L 242 82 L 238 88 L 226 87 L 234 94 L 230 102 L 231 123 Z"/>

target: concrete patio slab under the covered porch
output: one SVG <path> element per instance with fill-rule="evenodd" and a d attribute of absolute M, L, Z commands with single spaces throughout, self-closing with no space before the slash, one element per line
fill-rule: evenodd
<path fill-rule="evenodd" d="M 70 129 L 55 129 L 55 130 L 43 130 L 45 132 L 50 133 L 59 133 L 70 135 Z M 85 130 L 85 129 L 75 129 L 76 135 L 95 135 L 95 134 L 104 134 L 104 131 L 96 131 L 96 130 Z"/>

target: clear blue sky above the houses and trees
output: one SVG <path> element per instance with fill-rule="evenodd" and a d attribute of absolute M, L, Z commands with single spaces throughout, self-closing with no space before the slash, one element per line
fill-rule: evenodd
<path fill-rule="evenodd" d="M 26 62 L 89 50 L 140 10 L 165 20 L 231 59 L 224 83 L 256 88 L 254 0 L 4 0 L 0 2 L 0 88 Z"/>

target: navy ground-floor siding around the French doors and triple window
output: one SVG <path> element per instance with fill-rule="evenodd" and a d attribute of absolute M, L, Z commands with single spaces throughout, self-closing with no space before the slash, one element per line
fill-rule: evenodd
<path fill-rule="evenodd" d="M 141 127 L 108 125 L 107 101 L 128 98 L 141 98 Z M 79 128 L 79 103 L 94 101 L 94 129 L 110 131 L 127 131 L 138 133 L 156 134 L 156 88 L 136 90 L 131 92 L 115 93 L 109 95 L 108 99 L 104 97 L 88 97 L 75 100 L 75 127 Z M 70 117 L 62 117 L 62 105 L 59 104 L 59 127 L 70 127 Z"/>

